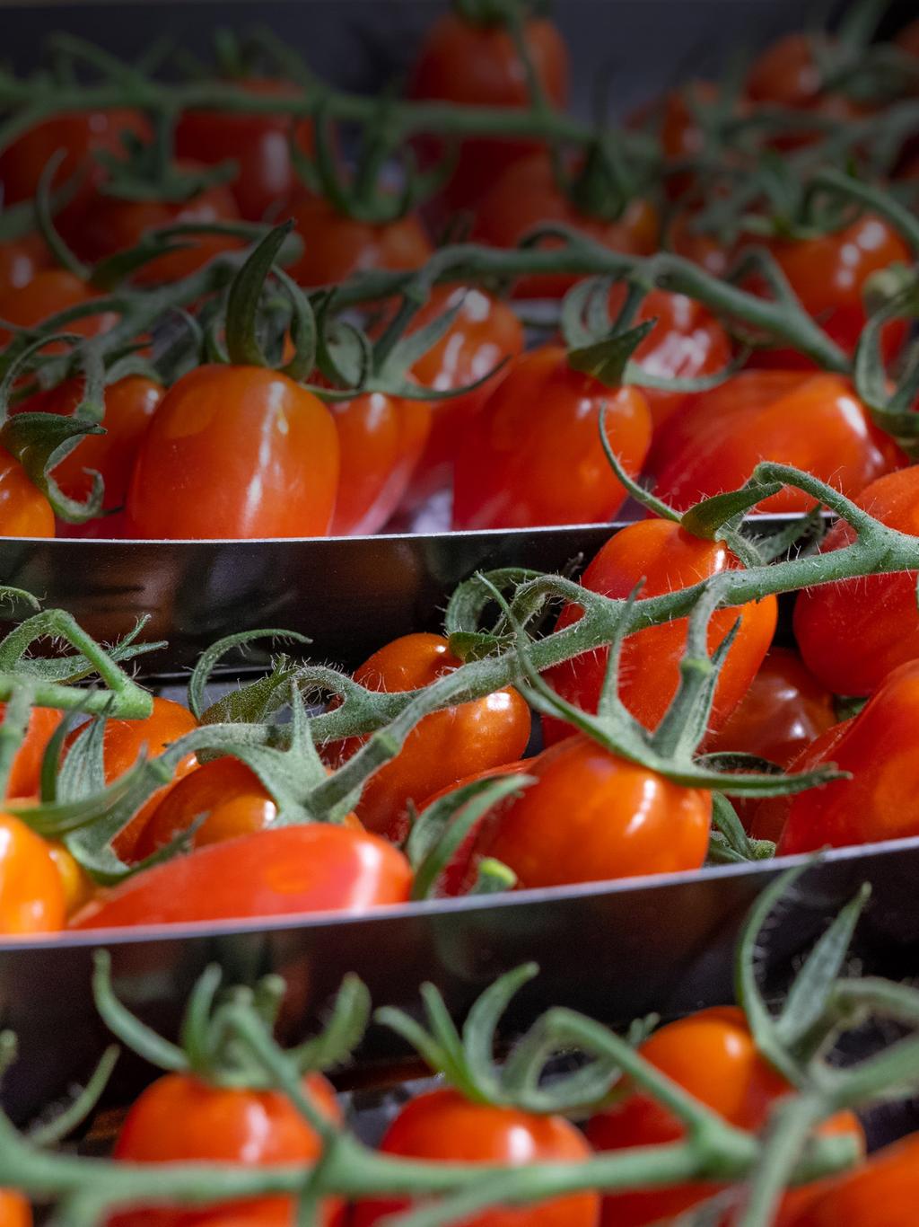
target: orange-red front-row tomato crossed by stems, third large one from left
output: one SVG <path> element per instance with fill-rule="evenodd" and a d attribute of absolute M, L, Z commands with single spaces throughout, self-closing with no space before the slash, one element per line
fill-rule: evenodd
<path fill-rule="evenodd" d="M 772 1104 L 788 1091 L 784 1079 L 758 1054 L 743 1012 L 733 1006 L 702 1010 L 668 1023 L 638 1050 L 738 1129 L 762 1129 Z M 858 1120 L 849 1112 L 825 1121 L 817 1133 L 852 1133 L 863 1141 Z M 684 1130 L 667 1108 L 635 1088 L 593 1117 L 587 1136 L 597 1150 L 618 1151 L 674 1142 L 684 1136 Z M 603 1199 L 603 1227 L 669 1222 L 717 1191 L 718 1185 L 713 1183 L 694 1182 L 609 1193 Z"/>

